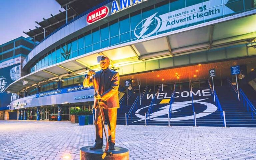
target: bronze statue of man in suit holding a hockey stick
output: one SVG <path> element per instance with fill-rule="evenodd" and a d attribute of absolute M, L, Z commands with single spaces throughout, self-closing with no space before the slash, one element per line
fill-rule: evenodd
<path fill-rule="evenodd" d="M 109 150 L 115 150 L 115 132 L 116 132 L 116 116 L 119 108 L 118 87 L 119 87 L 119 73 L 108 68 L 110 60 L 106 56 L 100 59 L 101 70 L 96 73 L 90 70 L 84 79 L 84 87 L 92 85 L 91 75 L 94 76 L 94 87 L 99 94 L 95 95 L 93 107 L 96 109 L 95 113 L 95 127 L 96 138 L 95 144 L 90 149 L 101 149 L 103 144 L 103 126 L 101 122 L 100 112 L 97 106 L 97 99 L 99 99 L 100 108 L 103 119 L 108 124 L 108 142 Z"/>

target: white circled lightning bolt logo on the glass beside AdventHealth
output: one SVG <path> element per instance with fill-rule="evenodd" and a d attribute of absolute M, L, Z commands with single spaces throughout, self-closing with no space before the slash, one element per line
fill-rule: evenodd
<path fill-rule="evenodd" d="M 158 12 L 157 12 L 158 13 Z M 138 39 L 140 38 L 147 38 L 149 36 L 151 36 L 152 34 L 156 33 L 159 28 L 162 25 L 162 20 L 156 16 L 156 14 L 153 14 L 152 16 L 143 19 L 135 28 L 134 30 L 134 35 L 135 37 L 137 37 Z M 156 24 L 151 25 L 152 22 L 154 22 L 156 20 Z M 142 27 L 140 27 L 142 24 Z"/>

